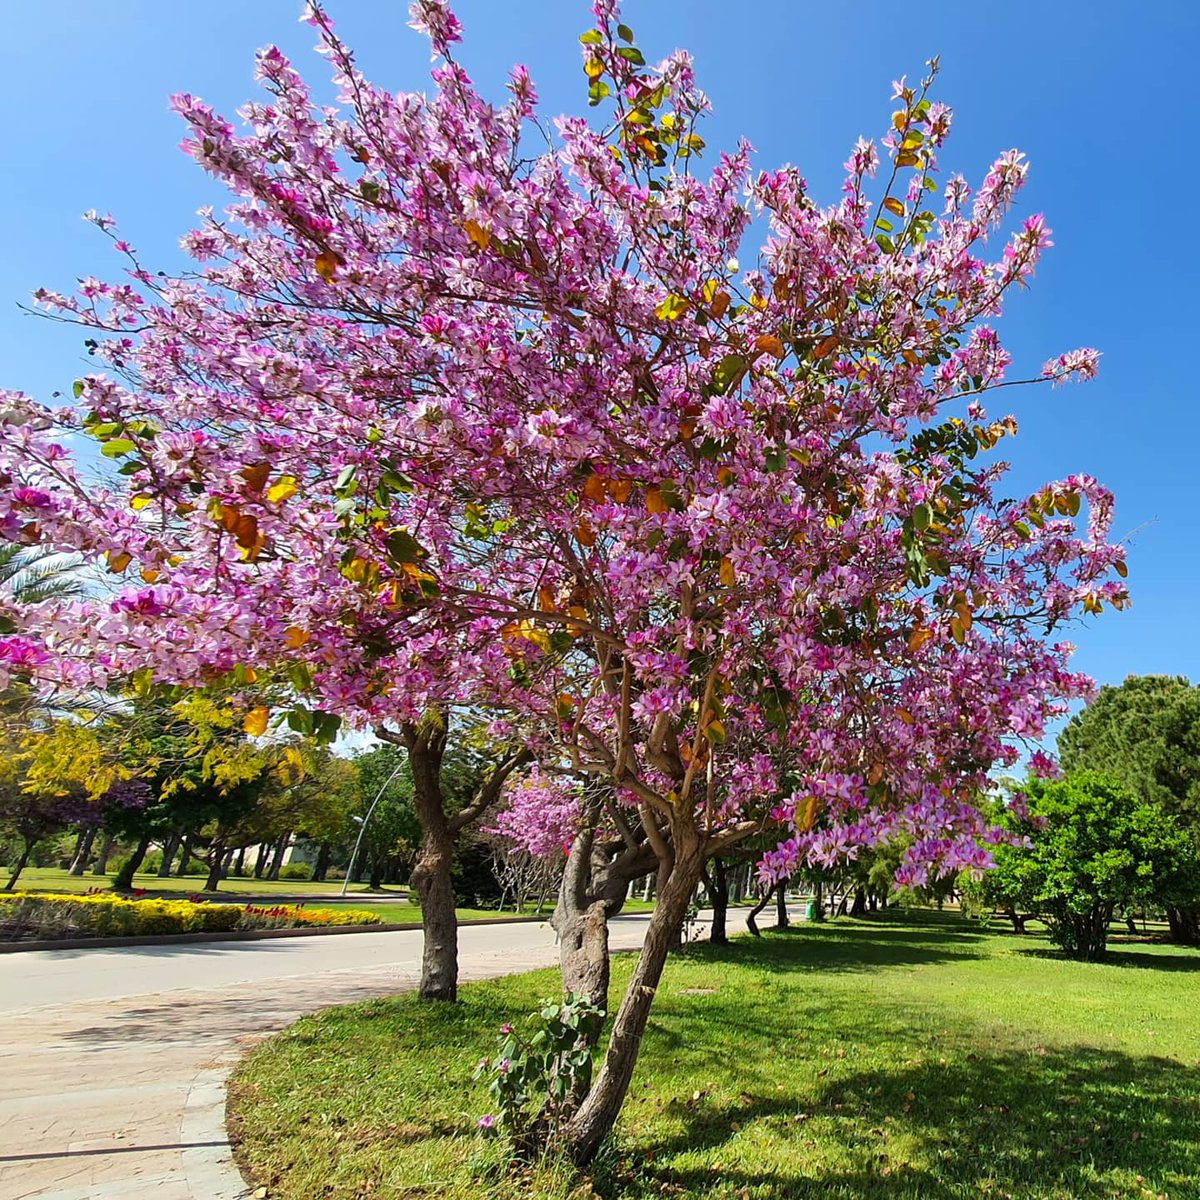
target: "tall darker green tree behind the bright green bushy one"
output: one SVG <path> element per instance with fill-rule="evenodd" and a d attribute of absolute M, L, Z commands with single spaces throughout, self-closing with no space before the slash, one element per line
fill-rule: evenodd
<path fill-rule="evenodd" d="M 1103 772 L 1159 804 L 1200 848 L 1200 688 L 1182 676 L 1102 688 L 1060 734 L 1058 757 L 1068 772 Z M 1169 905 L 1166 917 L 1176 938 L 1200 946 L 1200 908 Z"/>

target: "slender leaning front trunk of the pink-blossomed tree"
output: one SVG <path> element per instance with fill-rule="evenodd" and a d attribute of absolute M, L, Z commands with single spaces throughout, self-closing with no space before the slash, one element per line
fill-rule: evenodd
<path fill-rule="evenodd" d="M 580 1165 L 592 1162 L 620 1112 L 634 1078 L 637 1052 L 650 1015 L 654 992 L 662 978 L 662 967 L 678 937 L 704 865 L 702 846 L 695 832 L 682 822 L 672 832 L 674 865 L 667 880 L 659 881 L 659 901 L 646 930 L 637 966 L 634 967 L 617 1010 L 604 1063 L 595 1084 L 566 1129 L 571 1157 Z"/>

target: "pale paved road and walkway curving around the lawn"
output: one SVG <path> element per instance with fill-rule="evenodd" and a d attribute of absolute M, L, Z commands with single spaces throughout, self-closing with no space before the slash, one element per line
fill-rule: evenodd
<path fill-rule="evenodd" d="M 614 949 L 648 918 L 618 917 Z M 557 961 L 544 924 L 468 926 L 463 979 Z M 0 1196 L 235 1200 L 224 1079 L 304 1013 L 413 988 L 420 932 L 0 955 Z"/>

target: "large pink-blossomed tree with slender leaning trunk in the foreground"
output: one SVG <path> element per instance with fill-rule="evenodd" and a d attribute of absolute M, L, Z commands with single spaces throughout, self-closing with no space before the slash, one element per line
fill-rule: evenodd
<path fill-rule="evenodd" d="M 337 108 L 274 48 L 240 132 L 175 97 L 233 193 L 184 239 L 194 270 L 155 275 L 110 230 L 125 282 L 38 296 L 94 328 L 104 372 L 70 408 L 0 412 L 5 536 L 114 577 L 14 614 L 10 671 L 250 667 L 317 727 L 469 706 L 593 781 L 577 865 L 604 841 L 661 889 L 568 1127 L 580 1159 L 706 860 L 778 830 L 768 877 L 896 835 L 904 881 L 985 866 L 974 790 L 1087 688 L 1057 631 L 1126 600 L 1109 493 L 1004 499 L 988 457 L 1016 426 L 982 397 L 1020 382 L 990 322 L 1050 244 L 1040 216 L 1002 232 L 1024 157 L 974 192 L 942 178 L 925 80 L 895 85 L 832 206 L 744 143 L 701 172 L 688 55 L 647 65 L 613 0 L 594 13 L 594 124 L 540 126 L 522 68 L 484 101 L 444 0 L 413 5 L 427 96 L 371 85 L 312 8 Z M 58 426 L 115 474 L 88 480 Z M 613 890 L 587 876 L 564 889 L 602 948 Z"/>

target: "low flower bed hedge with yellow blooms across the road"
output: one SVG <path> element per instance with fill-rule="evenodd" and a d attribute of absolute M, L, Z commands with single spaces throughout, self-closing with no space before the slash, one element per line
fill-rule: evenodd
<path fill-rule="evenodd" d="M 373 912 L 354 908 L 259 907 L 193 900 L 126 900 L 107 893 L 0 895 L 0 940 L 133 937 L 148 934 L 215 934 L 300 925 L 377 925 Z"/>

